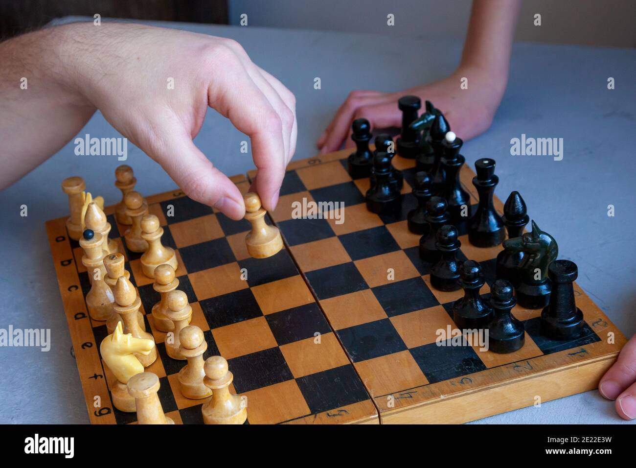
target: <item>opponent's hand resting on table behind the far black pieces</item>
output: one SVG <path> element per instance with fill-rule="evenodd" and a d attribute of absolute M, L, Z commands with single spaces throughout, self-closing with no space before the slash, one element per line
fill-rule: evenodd
<path fill-rule="evenodd" d="M 467 80 L 467 89 L 460 88 L 463 78 Z M 317 146 L 321 153 L 340 149 L 343 141 L 347 148 L 353 146 L 349 137 L 356 118 L 366 118 L 374 129 L 400 127 L 402 113 L 397 100 L 407 94 L 420 97 L 422 103 L 431 101 L 448 119 L 453 132 L 464 140 L 473 138 L 490 127 L 505 87 L 505 82 L 493 80 L 480 69 L 460 67 L 448 78 L 404 91 L 356 90 L 340 106 Z"/>

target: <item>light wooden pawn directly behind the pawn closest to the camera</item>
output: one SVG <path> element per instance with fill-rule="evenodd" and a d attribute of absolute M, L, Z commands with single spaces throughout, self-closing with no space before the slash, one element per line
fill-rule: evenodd
<path fill-rule="evenodd" d="M 205 378 L 203 353 L 207 350 L 203 332 L 196 325 L 189 325 L 179 332 L 179 352 L 188 359 L 179 371 L 179 387 L 186 398 L 201 399 L 212 395 L 212 390 L 203 383 Z"/>

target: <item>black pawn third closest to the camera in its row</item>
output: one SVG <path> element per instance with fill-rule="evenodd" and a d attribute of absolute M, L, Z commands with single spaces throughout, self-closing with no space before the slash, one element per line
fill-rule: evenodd
<path fill-rule="evenodd" d="M 445 224 L 435 235 L 435 246 L 441 253 L 441 259 L 431 269 L 431 286 L 438 291 L 457 291 L 459 285 L 459 268 L 462 262 L 457 260 L 457 251 L 462 243 L 457 239 L 457 228 Z"/>

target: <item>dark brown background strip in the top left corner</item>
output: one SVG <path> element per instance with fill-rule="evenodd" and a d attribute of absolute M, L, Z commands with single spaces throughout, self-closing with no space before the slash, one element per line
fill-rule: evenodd
<path fill-rule="evenodd" d="M 54 18 L 89 16 L 228 24 L 227 0 L 0 0 L 0 39 L 39 29 Z"/>

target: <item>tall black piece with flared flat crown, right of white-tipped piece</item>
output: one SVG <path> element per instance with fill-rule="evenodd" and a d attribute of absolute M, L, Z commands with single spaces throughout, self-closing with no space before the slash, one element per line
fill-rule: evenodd
<path fill-rule="evenodd" d="M 504 221 L 495 211 L 492 197 L 499 177 L 495 175 L 495 160 L 478 159 L 475 162 L 477 175 L 473 177 L 473 185 L 479 194 L 479 205 L 473 217 L 468 221 L 468 240 L 477 247 L 494 247 L 506 236 Z"/>

